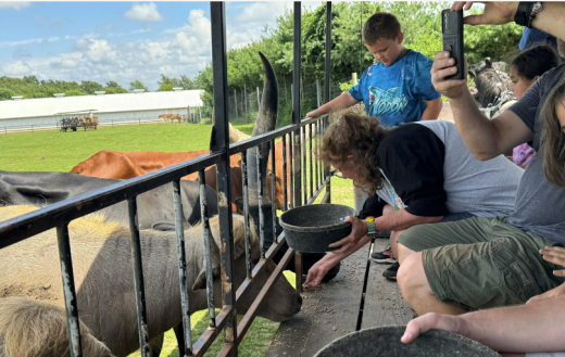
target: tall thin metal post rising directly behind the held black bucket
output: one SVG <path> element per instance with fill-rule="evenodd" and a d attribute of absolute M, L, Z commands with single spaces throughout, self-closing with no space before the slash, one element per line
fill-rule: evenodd
<path fill-rule="evenodd" d="M 294 2 L 294 55 L 292 64 L 292 124 L 297 126 L 294 131 L 294 207 L 302 205 L 301 195 L 301 160 L 300 160 L 300 72 L 302 60 L 302 3 Z M 297 277 L 297 290 L 302 291 L 302 255 L 297 252 L 294 255 L 294 267 Z"/>

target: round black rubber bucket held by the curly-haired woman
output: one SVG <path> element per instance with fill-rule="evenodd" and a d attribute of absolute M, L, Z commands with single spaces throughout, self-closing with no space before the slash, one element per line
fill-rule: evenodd
<path fill-rule="evenodd" d="M 337 250 L 328 245 L 351 233 L 351 224 L 339 218 L 355 215 L 355 209 L 340 204 L 313 204 L 285 212 L 279 221 L 291 248 L 324 253 Z"/>

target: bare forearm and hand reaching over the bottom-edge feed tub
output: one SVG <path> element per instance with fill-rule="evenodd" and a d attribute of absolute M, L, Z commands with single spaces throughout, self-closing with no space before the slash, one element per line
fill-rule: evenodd
<path fill-rule="evenodd" d="M 565 350 L 565 296 L 520 306 L 500 307 L 461 316 L 426 314 L 409 322 L 401 341 L 441 329 L 460 333 L 498 352 Z"/>

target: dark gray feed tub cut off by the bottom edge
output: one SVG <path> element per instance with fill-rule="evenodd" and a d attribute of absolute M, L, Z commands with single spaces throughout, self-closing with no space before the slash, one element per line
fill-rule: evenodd
<path fill-rule="evenodd" d="M 314 357 L 500 357 L 489 347 L 460 334 L 430 330 L 409 344 L 400 342 L 404 326 L 385 326 L 349 333 Z"/>

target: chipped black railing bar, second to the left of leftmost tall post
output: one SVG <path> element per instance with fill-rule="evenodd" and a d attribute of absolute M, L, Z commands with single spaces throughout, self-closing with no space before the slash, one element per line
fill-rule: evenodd
<path fill-rule="evenodd" d="M 173 181 L 173 204 L 175 208 L 175 228 L 178 240 L 178 277 L 180 279 L 180 303 L 183 307 L 183 330 L 185 333 L 184 355 L 192 356 L 192 332 L 190 330 L 190 302 L 187 288 L 185 227 L 183 224 L 185 215 L 183 213 L 183 201 L 180 197 L 180 180 Z"/>

